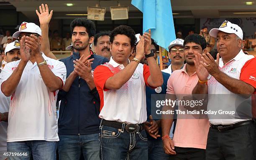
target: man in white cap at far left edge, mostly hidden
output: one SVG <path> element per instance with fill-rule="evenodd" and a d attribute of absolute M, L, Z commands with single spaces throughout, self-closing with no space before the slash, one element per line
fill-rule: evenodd
<path fill-rule="evenodd" d="M 20 60 L 20 43 L 14 41 L 9 43 L 5 48 L 4 59 L 7 63 L 12 61 Z M 0 84 L 2 81 L 2 74 L 0 69 Z M 5 97 L 5 95 L 0 91 L 0 160 L 7 158 L 4 156 L 6 149 L 6 139 L 7 139 L 7 126 L 8 126 L 8 112 L 10 105 L 10 97 Z"/>

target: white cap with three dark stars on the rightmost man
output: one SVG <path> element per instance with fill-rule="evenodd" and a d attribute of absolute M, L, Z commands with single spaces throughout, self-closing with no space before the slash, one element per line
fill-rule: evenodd
<path fill-rule="evenodd" d="M 236 24 L 225 20 L 221 25 L 220 28 L 212 28 L 209 32 L 210 36 L 217 37 L 219 31 L 223 31 L 225 33 L 233 33 L 236 34 L 240 39 L 243 40 L 243 30 Z"/>

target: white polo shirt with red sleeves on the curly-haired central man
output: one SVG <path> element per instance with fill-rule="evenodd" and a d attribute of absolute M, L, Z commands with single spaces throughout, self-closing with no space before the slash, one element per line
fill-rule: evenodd
<path fill-rule="evenodd" d="M 146 85 L 150 76 L 149 68 L 139 63 L 133 76 L 120 89 L 104 88 L 108 78 L 122 69 L 123 64 L 116 63 L 111 57 L 108 63 L 94 70 L 94 82 L 100 95 L 100 118 L 141 124 L 147 120 Z"/>

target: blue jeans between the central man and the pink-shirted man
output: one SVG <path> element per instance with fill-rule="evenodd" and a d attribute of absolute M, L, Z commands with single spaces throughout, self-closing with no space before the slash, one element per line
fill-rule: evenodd
<path fill-rule="evenodd" d="M 148 160 L 169 160 L 169 155 L 164 152 L 161 138 L 148 139 Z"/>

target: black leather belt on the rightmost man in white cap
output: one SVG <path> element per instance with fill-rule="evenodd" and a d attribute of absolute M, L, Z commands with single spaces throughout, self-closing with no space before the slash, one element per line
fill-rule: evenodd
<path fill-rule="evenodd" d="M 236 127 L 241 127 L 243 125 L 247 125 L 247 124 L 251 124 L 251 123 L 255 123 L 255 120 L 251 119 L 251 120 L 237 122 L 237 123 L 228 124 L 228 125 L 222 125 L 222 124 L 214 125 L 214 124 L 210 124 L 210 126 L 213 129 L 216 129 L 216 130 L 218 130 L 220 132 L 223 132 L 223 131 L 232 130 L 232 129 L 236 128 Z"/>

